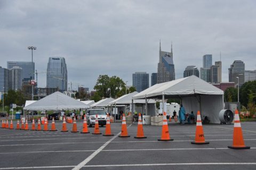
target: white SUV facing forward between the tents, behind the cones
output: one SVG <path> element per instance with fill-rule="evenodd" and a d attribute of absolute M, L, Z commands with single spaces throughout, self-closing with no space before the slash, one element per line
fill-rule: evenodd
<path fill-rule="evenodd" d="M 106 125 L 107 113 L 105 112 L 105 109 L 101 109 L 101 108 L 88 109 L 85 114 L 86 114 L 87 124 L 89 124 L 89 127 L 92 127 L 92 125 L 95 124 L 96 115 L 98 115 L 99 125 L 101 126 Z"/>

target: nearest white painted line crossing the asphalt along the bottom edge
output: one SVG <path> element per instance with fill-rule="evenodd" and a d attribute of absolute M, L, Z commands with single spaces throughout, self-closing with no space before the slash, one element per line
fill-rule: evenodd
<path fill-rule="evenodd" d="M 129 167 L 129 166 L 187 166 L 187 165 L 256 165 L 256 163 L 170 163 L 170 164 L 121 164 L 121 165 L 85 165 L 82 167 Z M 71 168 L 75 166 L 33 166 L 33 167 L 6 167 L 2 169 L 39 169 L 39 168 Z"/>

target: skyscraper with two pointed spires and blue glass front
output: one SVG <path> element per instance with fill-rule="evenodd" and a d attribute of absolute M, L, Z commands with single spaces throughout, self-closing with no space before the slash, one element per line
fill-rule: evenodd
<path fill-rule="evenodd" d="M 161 42 L 159 48 L 159 63 L 157 67 L 157 83 L 175 80 L 175 69 L 173 64 L 172 46 L 171 52 L 163 52 L 161 50 Z"/>

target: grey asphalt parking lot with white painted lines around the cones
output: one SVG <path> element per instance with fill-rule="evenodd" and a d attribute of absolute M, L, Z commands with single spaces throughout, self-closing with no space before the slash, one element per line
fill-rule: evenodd
<path fill-rule="evenodd" d="M 79 131 L 82 123 L 77 122 Z M 147 139 L 134 139 L 137 124 L 127 125 L 130 138 L 118 137 L 121 123 L 111 124 L 112 137 L 71 133 L 72 124 L 60 132 L 62 122 L 55 124 L 57 132 L 0 129 L 0 169 L 256 169 L 256 122 L 242 123 L 251 147 L 244 150 L 227 148 L 234 125 L 203 125 L 210 144 L 192 145 L 196 124 L 170 123 L 174 141 L 157 141 L 162 126 L 144 125 Z"/>

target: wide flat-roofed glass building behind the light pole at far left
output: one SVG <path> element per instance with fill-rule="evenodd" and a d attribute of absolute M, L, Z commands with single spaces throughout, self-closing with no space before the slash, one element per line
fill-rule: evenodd
<path fill-rule="evenodd" d="M 34 62 L 7 62 L 7 69 L 12 69 L 14 66 L 18 66 L 22 69 L 22 81 L 29 81 L 30 79 L 35 79 Z"/>

